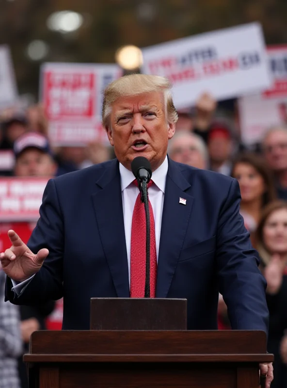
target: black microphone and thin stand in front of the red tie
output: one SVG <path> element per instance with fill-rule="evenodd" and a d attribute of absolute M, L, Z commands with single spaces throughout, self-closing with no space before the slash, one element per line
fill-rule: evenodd
<path fill-rule="evenodd" d="M 138 181 L 138 187 L 141 192 L 141 200 L 144 203 L 146 225 L 144 297 L 150 298 L 150 218 L 147 193 L 147 184 L 152 176 L 150 162 L 143 156 L 137 156 L 131 162 L 131 171 Z"/>

